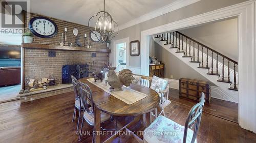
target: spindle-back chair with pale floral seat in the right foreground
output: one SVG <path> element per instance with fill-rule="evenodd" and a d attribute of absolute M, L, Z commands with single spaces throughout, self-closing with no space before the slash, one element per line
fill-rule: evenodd
<path fill-rule="evenodd" d="M 201 123 L 204 102 L 204 93 L 201 93 L 200 102 L 194 105 L 187 115 L 185 127 L 166 117 L 159 116 L 144 130 L 143 142 L 197 142 L 196 138 Z M 194 131 L 191 130 L 193 128 Z M 166 134 L 162 135 L 162 133 Z"/>

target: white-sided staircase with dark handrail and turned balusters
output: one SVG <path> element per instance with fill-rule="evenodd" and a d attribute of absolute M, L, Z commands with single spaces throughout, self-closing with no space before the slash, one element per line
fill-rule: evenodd
<path fill-rule="evenodd" d="M 216 84 L 229 101 L 238 102 L 236 61 L 178 31 L 156 35 L 154 40 Z"/>

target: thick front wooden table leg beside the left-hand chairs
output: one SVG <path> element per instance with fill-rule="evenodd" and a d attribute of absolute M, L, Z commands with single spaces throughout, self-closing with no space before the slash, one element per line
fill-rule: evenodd
<path fill-rule="evenodd" d="M 94 106 L 94 142 L 100 143 L 100 110 Z"/>

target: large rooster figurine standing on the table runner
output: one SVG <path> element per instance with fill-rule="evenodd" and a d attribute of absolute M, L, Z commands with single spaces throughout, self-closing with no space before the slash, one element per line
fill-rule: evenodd
<path fill-rule="evenodd" d="M 108 73 L 108 83 L 111 86 L 111 90 L 119 89 L 121 90 L 123 85 L 129 87 L 132 83 L 132 71 L 129 69 L 123 69 L 119 72 L 118 76 L 115 73 L 116 67 L 109 67 Z"/>

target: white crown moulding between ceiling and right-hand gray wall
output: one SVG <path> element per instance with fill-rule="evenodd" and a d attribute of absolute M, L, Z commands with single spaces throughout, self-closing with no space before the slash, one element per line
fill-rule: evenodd
<path fill-rule="evenodd" d="M 135 18 L 135 19 L 133 19 L 131 21 L 128 21 L 128 22 L 120 25 L 119 26 L 119 30 L 123 30 L 123 29 L 125 29 L 127 27 L 131 27 L 133 25 L 136 25 L 136 24 L 139 24 L 141 22 L 153 19 L 155 17 L 164 15 L 166 13 L 172 12 L 174 10 L 177 10 L 177 9 L 182 8 L 182 7 L 194 4 L 194 3 L 199 2 L 199 1 L 201 1 L 201 0 L 178 0 L 178 1 L 175 1 L 174 3 L 171 3 L 169 5 L 161 7 L 159 9 L 157 9 L 157 10 L 154 10 L 152 12 L 144 14 L 144 15 L 138 17 L 138 18 Z"/>

